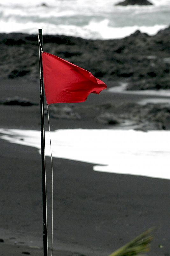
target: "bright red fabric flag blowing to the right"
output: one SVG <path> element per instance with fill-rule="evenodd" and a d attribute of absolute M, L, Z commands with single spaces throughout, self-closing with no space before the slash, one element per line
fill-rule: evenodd
<path fill-rule="evenodd" d="M 107 88 L 89 71 L 53 54 L 42 52 L 42 63 L 47 104 L 83 102 Z"/>

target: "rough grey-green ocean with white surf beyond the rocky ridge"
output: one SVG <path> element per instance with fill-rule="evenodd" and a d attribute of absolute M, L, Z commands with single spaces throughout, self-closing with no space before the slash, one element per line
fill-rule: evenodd
<path fill-rule="evenodd" d="M 170 24 L 170 0 L 150 0 L 152 6 L 114 6 L 120 1 L 0 0 L 0 33 L 36 34 L 42 28 L 44 34 L 111 39 L 137 29 L 154 35 Z"/>

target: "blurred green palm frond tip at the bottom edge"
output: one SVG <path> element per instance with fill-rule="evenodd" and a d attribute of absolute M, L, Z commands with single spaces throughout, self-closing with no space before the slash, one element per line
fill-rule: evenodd
<path fill-rule="evenodd" d="M 135 237 L 131 242 L 125 244 L 109 256 L 132 256 L 139 253 L 148 252 L 150 249 L 150 242 L 153 237 L 151 235 L 154 228 L 150 228 L 139 236 Z"/>

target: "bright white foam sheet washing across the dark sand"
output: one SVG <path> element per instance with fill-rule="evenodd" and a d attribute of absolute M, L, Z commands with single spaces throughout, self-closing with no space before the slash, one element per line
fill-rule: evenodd
<path fill-rule="evenodd" d="M 0 138 L 39 149 L 40 132 L 0 129 Z M 51 132 L 53 157 L 93 163 L 94 171 L 170 179 L 170 131 L 66 129 Z M 50 156 L 49 132 L 46 155 Z M 101 164 L 101 165 L 100 165 Z"/>

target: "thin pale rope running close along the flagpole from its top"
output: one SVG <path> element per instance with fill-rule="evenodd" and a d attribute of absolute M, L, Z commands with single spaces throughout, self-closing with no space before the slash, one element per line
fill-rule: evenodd
<path fill-rule="evenodd" d="M 39 38 L 39 34 L 37 34 L 38 35 L 38 38 Z M 40 40 L 39 40 L 39 46 L 41 46 L 41 44 L 40 44 Z M 42 52 L 42 47 L 41 47 L 41 52 Z M 40 47 L 39 47 L 39 63 L 40 63 Z M 40 69 L 40 81 L 41 81 L 41 95 L 42 95 L 42 77 L 41 77 L 41 67 L 40 67 L 40 65 L 39 65 L 39 69 Z M 42 102 L 42 109 L 43 109 L 43 102 Z M 44 137 L 44 133 L 45 133 L 45 131 L 44 131 L 44 116 L 42 115 L 42 128 L 43 128 L 43 141 L 44 141 L 44 163 L 45 163 L 45 184 L 46 184 L 46 158 L 45 158 L 45 156 L 46 156 L 46 154 L 45 154 L 45 137 Z M 45 186 L 45 188 L 46 188 L 46 186 Z M 46 199 L 46 202 L 47 202 L 47 199 Z M 47 227 L 47 203 L 46 203 L 46 227 Z M 47 228 L 47 230 L 48 230 L 48 228 Z M 47 231 L 47 256 L 48 256 L 48 231 Z"/>

